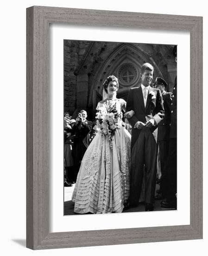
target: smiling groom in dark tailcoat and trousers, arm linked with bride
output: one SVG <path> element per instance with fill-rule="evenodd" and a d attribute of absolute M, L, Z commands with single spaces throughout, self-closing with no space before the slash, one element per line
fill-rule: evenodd
<path fill-rule="evenodd" d="M 132 168 L 130 207 L 137 206 L 141 193 L 143 174 L 145 175 L 145 210 L 153 210 L 158 147 L 152 132 L 164 117 L 162 95 L 152 88 L 154 68 L 149 63 L 141 67 L 141 86 L 129 91 L 126 111 L 133 110 L 129 118 L 132 125 Z M 144 169 L 145 166 L 145 169 Z M 145 171 L 144 171 L 145 170 Z"/>

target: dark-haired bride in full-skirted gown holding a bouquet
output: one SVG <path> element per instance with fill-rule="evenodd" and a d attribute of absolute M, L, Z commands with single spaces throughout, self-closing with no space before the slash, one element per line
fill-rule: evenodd
<path fill-rule="evenodd" d="M 98 132 L 83 156 L 72 195 L 79 214 L 122 212 L 129 197 L 131 135 L 121 125 L 126 101 L 116 98 L 114 75 L 103 87 L 107 98 L 96 108 Z"/>

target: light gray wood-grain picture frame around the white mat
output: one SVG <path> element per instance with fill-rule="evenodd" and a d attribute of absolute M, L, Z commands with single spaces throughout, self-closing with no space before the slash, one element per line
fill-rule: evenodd
<path fill-rule="evenodd" d="M 49 233 L 49 24 L 190 32 L 190 225 Z M 27 235 L 31 249 L 202 238 L 202 17 L 27 8 Z"/>

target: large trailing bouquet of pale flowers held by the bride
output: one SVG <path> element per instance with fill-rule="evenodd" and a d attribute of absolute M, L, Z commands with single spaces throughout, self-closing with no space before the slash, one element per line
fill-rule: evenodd
<path fill-rule="evenodd" d="M 100 128 L 103 136 L 108 136 L 110 141 L 110 147 L 113 147 L 113 135 L 115 130 L 119 128 L 118 118 L 121 115 L 116 110 L 116 104 L 113 106 L 109 104 L 109 101 L 105 102 L 105 107 L 99 107 L 95 118 L 97 119 L 97 127 Z"/>

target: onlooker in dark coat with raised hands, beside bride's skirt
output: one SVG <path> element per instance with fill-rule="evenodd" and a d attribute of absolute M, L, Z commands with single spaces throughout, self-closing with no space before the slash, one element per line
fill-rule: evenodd
<path fill-rule="evenodd" d="M 81 166 L 82 158 L 89 145 L 89 134 L 93 126 L 93 123 L 88 121 L 86 118 L 87 112 L 85 110 L 81 110 L 76 118 L 76 123 L 72 128 L 72 134 L 75 135 L 73 147 L 75 182 L 79 168 Z"/>

